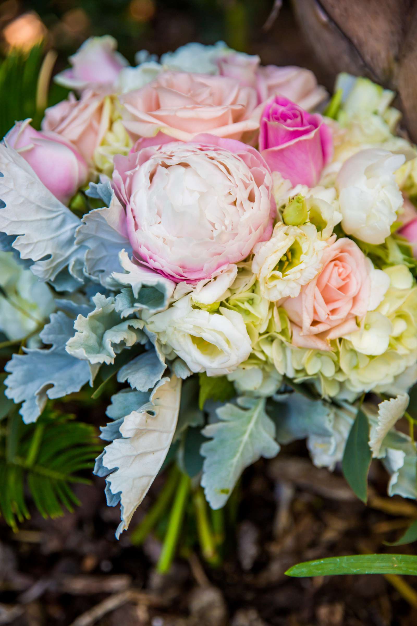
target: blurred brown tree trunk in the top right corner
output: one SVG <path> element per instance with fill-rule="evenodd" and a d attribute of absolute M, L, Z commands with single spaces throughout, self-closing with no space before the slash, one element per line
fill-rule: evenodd
<path fill-rule="evenodd" d="M 292 0 L 304 37 L 331 78 L 368 76 L 398 92 L 417 141 L 417 0 Z"/>

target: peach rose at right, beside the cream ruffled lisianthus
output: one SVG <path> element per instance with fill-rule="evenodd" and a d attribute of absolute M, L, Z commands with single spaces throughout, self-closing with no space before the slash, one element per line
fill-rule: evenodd
<path fill-rule="evenodd" d="M 377 270 L 347 237 L 324 249 L 321 262 L 321 272 L 282 306 L 292 322 L 293 344 L 326 350 L 326 340 L 358 329 L 356 317 L 369 309 L 371 274 Z"/>

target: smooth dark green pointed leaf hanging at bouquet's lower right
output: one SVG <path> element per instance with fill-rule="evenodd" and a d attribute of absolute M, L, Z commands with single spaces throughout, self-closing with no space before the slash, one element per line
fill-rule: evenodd
<path fill-rule="evenodd" d="M 368 418 L 359 409 L 344 448 L 342 469 L 352 491 L 364 504 L 368 501 L 368 472 L 372 459 L 368 441 Z"/>

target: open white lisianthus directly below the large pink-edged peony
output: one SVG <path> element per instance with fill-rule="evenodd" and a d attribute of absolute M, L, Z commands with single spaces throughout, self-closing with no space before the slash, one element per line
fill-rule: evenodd
<path fill-rule="evenodd" d="M 192 372 L 223 376 L 248 359 L 251 340 L 239 313 L 223 307 L 218 311 L 193 309 L 188 295 L 149 317 L 146 326 L 157 332 L 159 341 L 169 344 Z"/>

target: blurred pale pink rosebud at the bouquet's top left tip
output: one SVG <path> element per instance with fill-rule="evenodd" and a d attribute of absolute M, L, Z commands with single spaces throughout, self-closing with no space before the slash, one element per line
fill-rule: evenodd
<path fill-rule="evenodd" d="M 69 57 L 72 67 L 57 74 L 54 81 L 77 91 L 114 85 L 121 69 L 129 65 L 124 56 L 116 52 L 117 46 L 116 39 L 109 35 L 90 37 Z"/>

